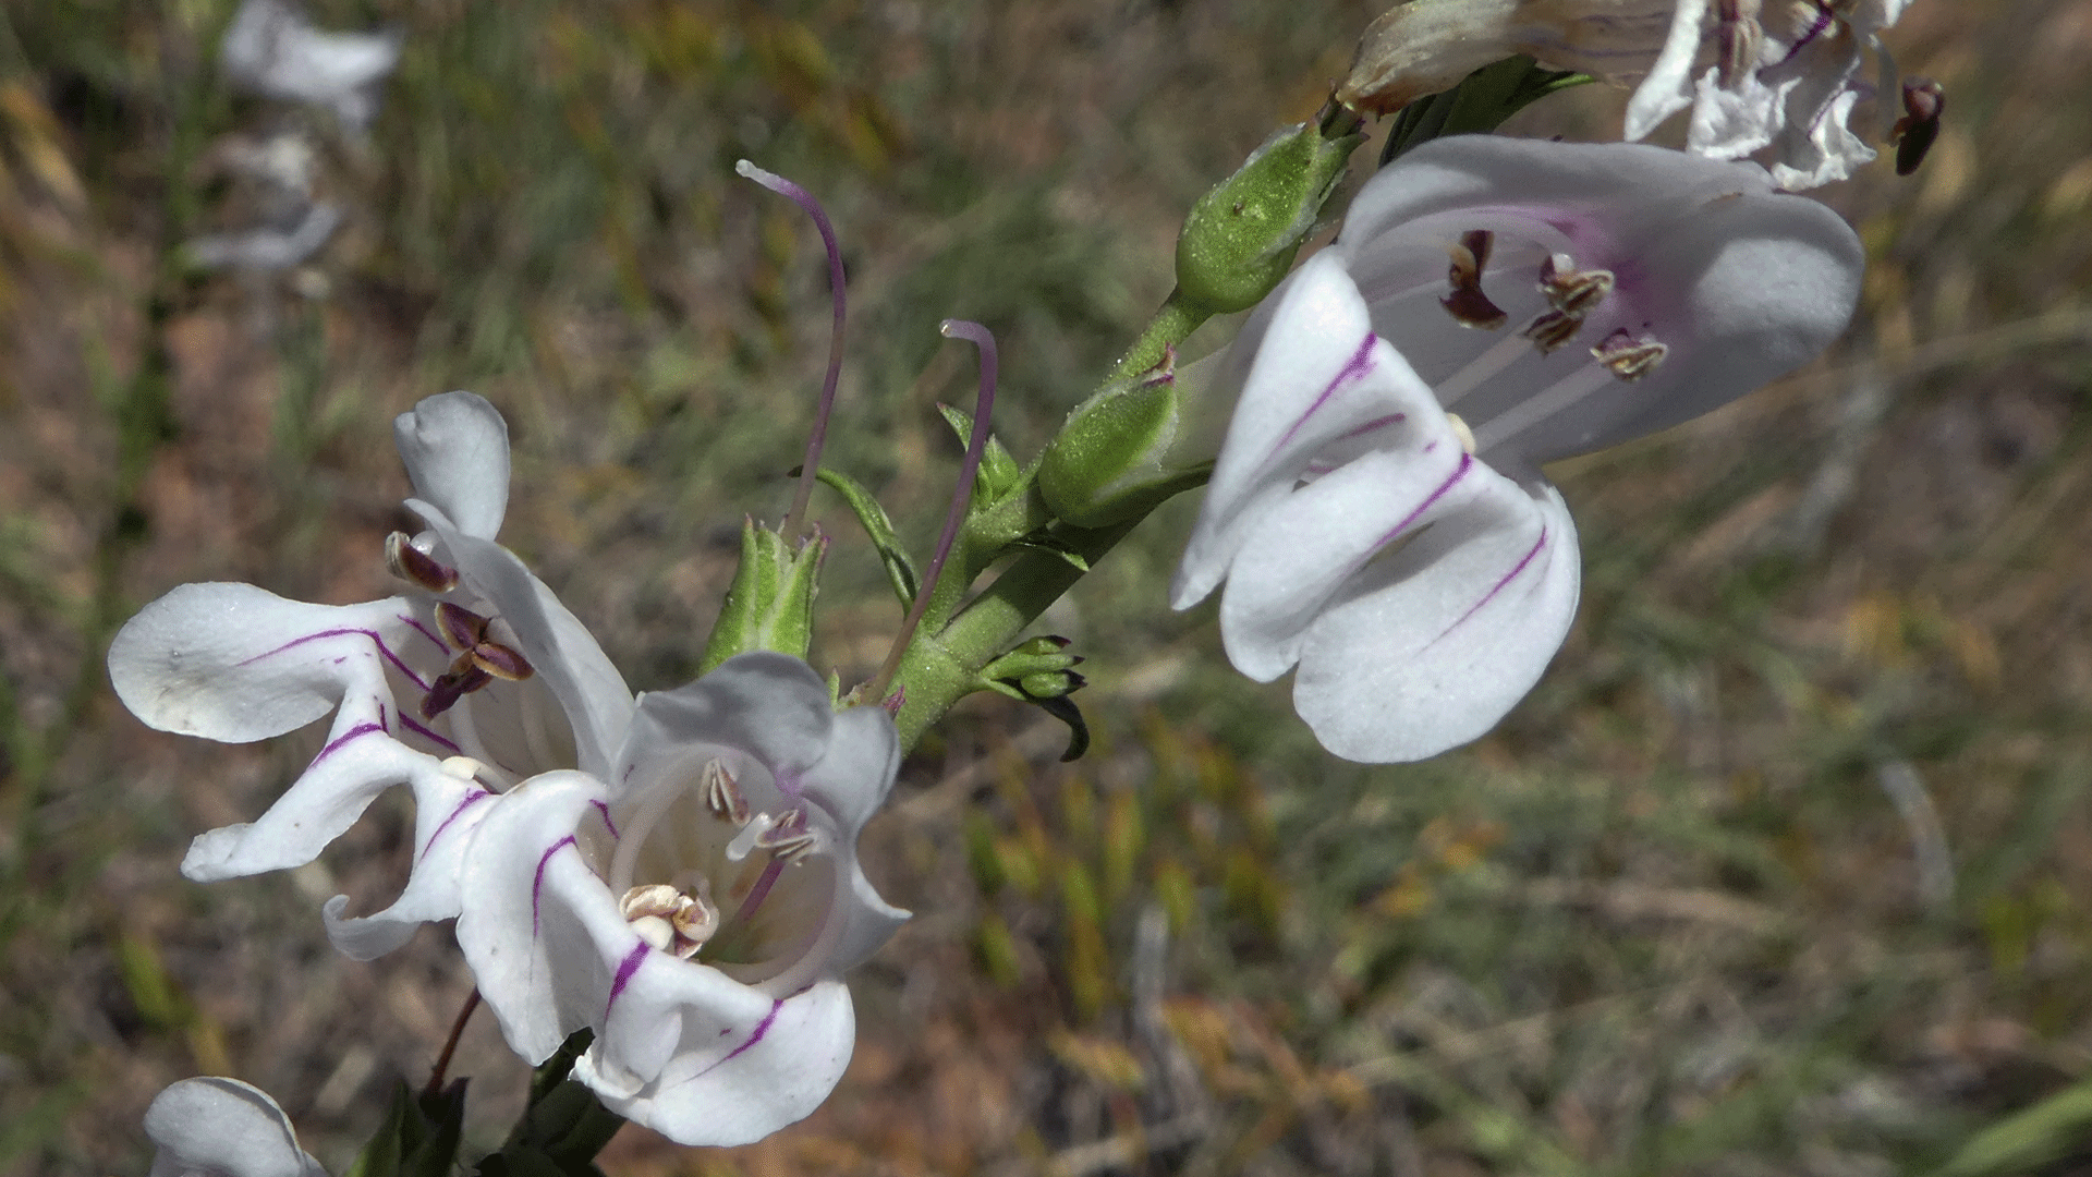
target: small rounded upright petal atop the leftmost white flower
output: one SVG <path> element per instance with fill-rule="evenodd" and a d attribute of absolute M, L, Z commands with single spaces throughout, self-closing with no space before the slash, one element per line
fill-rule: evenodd
<path fill-rule="evenodd" d="M 508 511 L 508 421 L 483 396 L 446 392 L 393 419 L 414 484 L 460 532 L 492 540 Z"/>

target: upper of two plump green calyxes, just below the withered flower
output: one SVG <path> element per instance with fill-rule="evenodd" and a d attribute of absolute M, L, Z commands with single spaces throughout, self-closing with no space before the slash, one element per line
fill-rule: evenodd
<path fill-rule="evenodd" d="M 1268 138 L 1184 218 L 1178 293 L 1211 314 L 1257 306 L 1293 268 L 1364 140 L 1356 121 L 1305 121 Z"/>

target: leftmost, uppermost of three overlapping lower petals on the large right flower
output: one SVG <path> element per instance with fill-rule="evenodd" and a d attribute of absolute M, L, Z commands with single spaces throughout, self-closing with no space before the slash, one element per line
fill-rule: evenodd
<path fill-rule="evenodd" d="M 1324 249 L 1310 258 L 1266 306 L 1272 312 L 1230 350 L 1228 367 L 1247 375 L 1169 588 L 1176 609 L 1188 609 L 1220 584 L 1259 519 L 1293 492 L 1318 450 L 1372 423 L 1385 423 L 1381 434 L 1389 438 L 1374 444 L 1412 450 L 1443 429 L 1431 390 L 1372 335 L 1366 299 L 1339 253 Z M 1234 354 L 1253 360 L 1236 362 Z"/>

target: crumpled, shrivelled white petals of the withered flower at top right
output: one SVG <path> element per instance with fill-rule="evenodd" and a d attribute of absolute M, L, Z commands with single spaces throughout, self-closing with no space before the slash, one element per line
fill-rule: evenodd
<path fill-rule="evenodd" d="M 1854 107 L 1872 98 L 1889 130 L 1897 94 L 1895 61 L 1881 29 L 1906 0 L 1678 0 L 1663 52 L 1628 103 L 1628 138 L 1638 140 L 1692 107 L 1686 149 L 1715 159 L 1768 151 L 1772 180 L 1799 191 L 1843 180 L 1874 159 L 1849 130 Z M 1699 69 L 1707 48 L 1713 65 Z M 1866 50 L 1877 75 L 1866 77 Z"/>

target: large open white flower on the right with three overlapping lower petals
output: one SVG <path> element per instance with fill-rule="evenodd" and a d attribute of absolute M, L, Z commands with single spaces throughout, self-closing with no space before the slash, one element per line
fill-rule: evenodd
<path fill-rule="evenodd" d="M 1339 756 L 1475 739 L 1575 614 L 1575 526 L 1540 465 L 1807 362 L 1860 270 L 1845 222 L 1751 163 L 1427 142 L 1228 352 L 1241 398 L 1172 603 L 1226 580 L 1228 658 L 1299 664 L 1295 708 Z"/>

